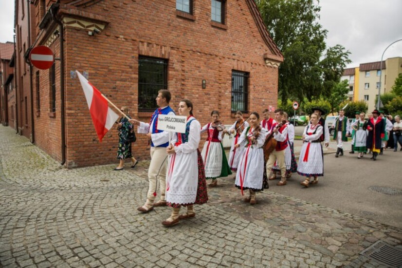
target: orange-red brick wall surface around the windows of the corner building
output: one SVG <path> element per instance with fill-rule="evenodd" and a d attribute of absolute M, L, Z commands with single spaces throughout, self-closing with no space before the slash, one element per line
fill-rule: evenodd
<path fill-rule="evenodd" d="M 264 62 L 263 55 L 272 53 L 264 43 L 246 1 L 226 2 L 223 27 L 212 25 L 210 1 L 194 3 L 193 19 L 184 19 L 177 15 L 174 0 L 100 1 L 85 8 L 86 12 L 102 14 L 110 22 L 100 34 L 89 36 L 88 30 L 66 27 L 68 167 L 117 163 L 118 146 L 115 129 L 106 134 L 102 143 L 98 141 L 79 80 L 70 78 L 70 71 L 88 72 L 90 82 L 112 102 L 118 107 L 128 106 L 132 117 L 145 122 L 149 121 L 151 113 L 138 112 L 139 55 L 168 60 L 172 108 L 177 110 L 184 97 L 191 99 L 201 125 L 210 121 L 212 110 L 220 111 L 225 124 L 233 123 L 234 116 L 230 113 L 232 70 L 250 73 L 250 112 L 261 113 L 269 105 L 276 107 L 278 69 L 268 67 Z M 57 47 L 52 49 L 58 53 Z M 56 69 L 59 70 L 59 66 Z M 40 72 L 40 79 L 44 80 L 43 87 L 41 82 L 41 103 L 47 105 L 48 78 L 46 73 L 42 77 Z M 206 89 L 201 88 L 202 79 L 206 80 Z M 57 98 L 59 95 L 57 92 Z M 48 118 L 41 111 L 35 123 L 37 145 L 57 159 L 60 157 L 57 154 L 60 151 L 58 115 L 57 111 L 55 118 Z M 147 159 L 147 141 L 144 135 L 137 136 L 133 154 L 140 160 Z"/>

